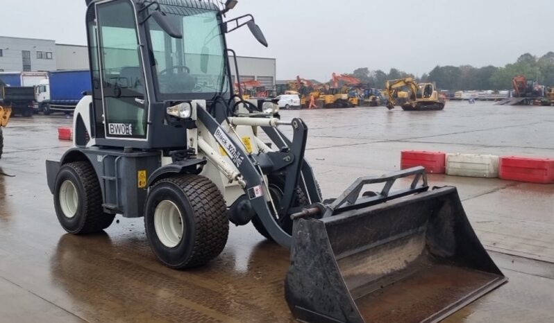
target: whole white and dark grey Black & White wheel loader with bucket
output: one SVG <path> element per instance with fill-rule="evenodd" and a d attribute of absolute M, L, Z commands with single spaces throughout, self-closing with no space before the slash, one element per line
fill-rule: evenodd
<path fill-rule="evenodd" d="M 308 126 L 233 92 L 226 33 L 247 26 L 267 46 L 251 15 L 224 21 L 237 1 L 86 2 L 94 86 L 74 148 L 46 162 L 67 232 L 144 217 L 153 254 L 183 269 L 224 250 L 229 222 L 252 222 L 290 248 L 285 299 L 303 322 L 436 322 L 506 281 L 456 189 L 430 189 L 424 168 L 322 199 Z M 408 187 L 392 190 L 397 180 Z"/>

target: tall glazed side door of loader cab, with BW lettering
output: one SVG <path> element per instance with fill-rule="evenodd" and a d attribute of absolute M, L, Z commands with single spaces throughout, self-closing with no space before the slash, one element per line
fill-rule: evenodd
<path fill-rule="evenodd" d="M 148 98 L 133 6 L 128 0 L 96 4 L 106 139 L 147 140 Z"/>

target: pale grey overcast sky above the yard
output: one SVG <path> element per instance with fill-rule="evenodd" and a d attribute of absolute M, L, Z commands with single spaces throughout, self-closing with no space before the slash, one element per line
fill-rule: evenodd
<path fill-rule="evenodd" d="M 84 0 L 0 0 L 0 35 L 86 44 Z M 54 3 L 56 3 L 54 5 Z M 228 36 L 239 55 L 277 58 L 277 78 L 326 81 L 357 67 L 421 75 L 435 65 L 503 66 L 554 51 L 554 1 L 240 0 L 269 48 L 248 28 Z"/>

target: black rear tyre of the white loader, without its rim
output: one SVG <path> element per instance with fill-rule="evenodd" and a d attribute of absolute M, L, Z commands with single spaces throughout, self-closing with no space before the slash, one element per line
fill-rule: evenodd
<path fill-rule="evenodd" d="M 71 181 L 78 195 L 77 212 L 67 218 L 60 207 L 60 186 Z M 95 234 L 109 227 L 115 215 L 104 213 L 102 191 L 94 168 L 87 161 L 76 161 L 60 168 L 54 184 L 54 208 L 60 225 L 70 234 Z"/>

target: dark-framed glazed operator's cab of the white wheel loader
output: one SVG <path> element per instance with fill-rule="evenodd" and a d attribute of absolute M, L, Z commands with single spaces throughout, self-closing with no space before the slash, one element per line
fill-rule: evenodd
<path fill-rule="evenodd" d="M 230 98 L 224 26 L 209 1 L 91 1 L 90 136 L 96 145 L 186 148 L 189 125 L 167 116 L 167 107 Z"/>

